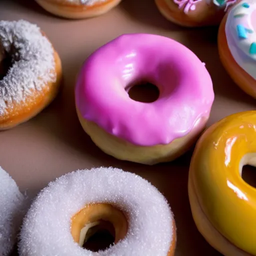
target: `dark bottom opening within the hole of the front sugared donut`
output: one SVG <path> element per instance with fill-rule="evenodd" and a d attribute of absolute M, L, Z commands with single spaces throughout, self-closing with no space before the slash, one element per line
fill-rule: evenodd
<path fill-rule="evenodd" d="M 82 247 L 84 249 L 97 252 L 99 250 L 105 250 L 110 245 L 114 244 L 115 241 L 115 230 L 114 226 L 109 221 L 99 220 L 94 223 L 84 235 L 84 241 Z M 84 229 L 87 229 L 85 226 Z M 80 236 L 82 235 L 82 230 Z"/>

